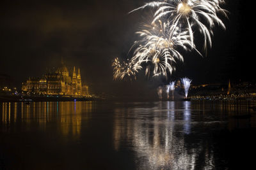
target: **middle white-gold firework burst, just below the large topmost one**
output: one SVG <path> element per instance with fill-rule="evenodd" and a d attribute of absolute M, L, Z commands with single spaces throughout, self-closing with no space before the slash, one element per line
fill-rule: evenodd
<path fill-rule="evenodd" d="M 181 31 L 179 27 L 173 28 L 170 22 L 158 20 L 156 24 L 145 25 L 145 29 L 136 32 L 141 37 L 133 46 L 132 61 L 146 63 L 145 74 L 150 76 L 166 76 L 175 70 L 175 60 L 183 61 L 177 47 L 184 50 L 195 48 L 189 40 L 188 31 Z M 132 47 L 133 47 L 132 46 Z"/>

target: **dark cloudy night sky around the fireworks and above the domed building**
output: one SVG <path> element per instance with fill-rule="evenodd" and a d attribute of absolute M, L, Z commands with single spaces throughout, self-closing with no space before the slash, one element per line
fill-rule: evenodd
<path fill-rule="evenodd" d="M 41 76 L 47 67 L 60 65 L 70 71 L 80 67 L 93 92 L 139 92 L 150 83 L 113 82 L 111 62 L 125 56 L 136 40 L 142 11 L 127 14 L 146 1 L 1 1 L 0 73 L 20 86 L 28 76 Z M 227 30 L 214 29 L 212 48 L 202 58 L 184 53 L 185 62 L 174 76 L 188 76 L 193 83 L 255 81 L 252 62 L 253 11 L 244 0 L 228 0 L 223 18 Z M 254 39 L 253 39 L 254 41 Z M 202 50 L 199 48 L 199 50 Z M 159 80 L 160 81 L 160 80 Z M 146 88 L 146 89 L 147 89 Z"/>

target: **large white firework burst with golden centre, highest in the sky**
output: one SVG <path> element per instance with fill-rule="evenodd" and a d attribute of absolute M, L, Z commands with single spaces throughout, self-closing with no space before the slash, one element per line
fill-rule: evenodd
<path fill-rule="evenodd" d="M 174 28 L 180 27 L 181 29 L 188 29 L 189 37 L 193 43 L 194 25 L 197 25 L 200 33 L 204 36 L 204 47 L 206 50 L 207 43 L 211 46 L 212 27 L 214 24 L 221 25 L 225 29 L 225 25 L 218 18 L 217 13 L 223 13 L 227 17 L 227 11 L 220 8 L 220 3 L 223 1 L 218 0 L 166 0 L 166 1 L 153 1 L 146 3 L 136 11 L 146 7 L 157 8 L 154 13 L 154 24 L 157 20 L 168 20 L 172 22 Z M 131 12 L 132 12 L 131 11 Z M 204 23 L 202 22 L 204 20 Z"/>

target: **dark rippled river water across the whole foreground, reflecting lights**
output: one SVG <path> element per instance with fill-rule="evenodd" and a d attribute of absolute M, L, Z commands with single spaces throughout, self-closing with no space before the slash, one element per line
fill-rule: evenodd
<path fill-rule="evenodd" d="M 251 169 L 253 104 L 0 103 L 0 169 Z"/>

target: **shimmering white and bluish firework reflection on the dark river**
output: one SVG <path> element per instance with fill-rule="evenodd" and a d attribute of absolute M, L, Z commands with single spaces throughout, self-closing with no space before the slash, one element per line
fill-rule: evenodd
<path fill-rule="evenodd" d="M 214 159 L 218 158 L 207 139 L 192 144 L 186 141 L 193 135 L 191 126 L 196 125 L 191 109 L 190 101 L 161 101 L 152 108 L 116 108 L 115 150 L 120 150 L 122 143 L 131 143 L 138 169 L 196 169 L 198 161 L 200 169 L 214 168 Z"/>

